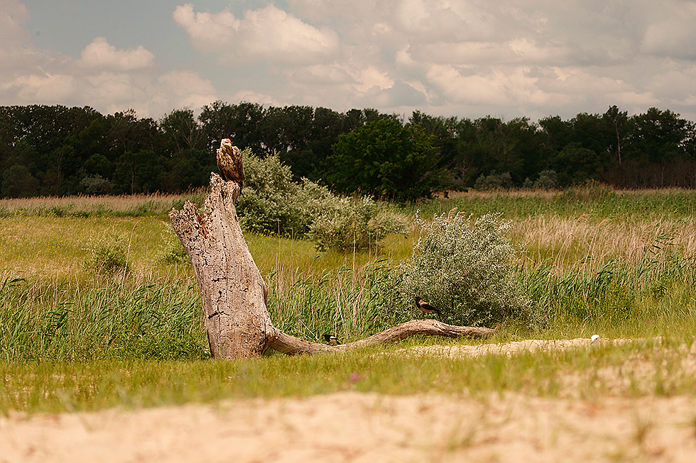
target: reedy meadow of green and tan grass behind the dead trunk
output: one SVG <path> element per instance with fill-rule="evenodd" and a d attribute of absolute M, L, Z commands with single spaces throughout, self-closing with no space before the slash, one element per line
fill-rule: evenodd
<path fill-rule="evenodd" d="M 596 330 L 645 336 L 695 328 L 691 191 L 617 193 L 597 187 L 450 196 L 418 208 L 504 211 L 513 241 L 523 247 L 516 276 L 533 299 L 535 316 L 512 320 L 506 330 L 567 338 Z M 168 323 L 189 327 L 185 342 L 182 334 L 170 340 L 188 347 L 163 348 L 163 357 L 205 357 L 205 337 L 192 321 L 200 318 L 200 296 L 164 216 L 14 214 L 0 217 L 0 228 L 0 358 L 146 357 L 152 351 L 132 340 L 170 339 Z M 95 243 L 114 237 L 126 244 L 127 270 L 99 275 L 89 256 Z M 270 289 L 273 323 L 288 333 L 308 340 L 334 333 L 347 341 L 421 316 L 414 306 L 388 297 L 391 275 L 410 258 L 417 233 L 390 236 L 379 250 L 345 253 L 317 252 L 308 240 L 273 235 L 247 233 L 246 240 Z M 144 307 L 141 315 L 134 313 L 137 307 Z M 99 333 L 92 329 L 99 317 L 112 318 L 112 325 L 92 335 Z M 138 317 L 155 321 L 125 321 Z M 128 341 L 109 343 L 104 333 L 121 325 L 133 330 L 122 335 Z"/>

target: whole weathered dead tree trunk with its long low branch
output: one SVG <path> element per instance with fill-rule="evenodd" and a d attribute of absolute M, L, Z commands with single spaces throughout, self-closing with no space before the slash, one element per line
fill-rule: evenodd
<path fill-rule="evenodd" d="M 200 286 L 212 357 L 260 357 L 268 347 L 286 354 L 335 352 L 395 342 L 416 334 L 480 338 L 494 333 L 489 328 L 452 326 L 437 320 L 412 320 L 343 345 L 318 344 L 283 333 L 268 316 L 268 289 L 239 227 L 234 208 L 239 185 L 212 174 L 210 186 L 203 216 L 187 201 L 181 211 L 170 211 L 169 218 Z"/>

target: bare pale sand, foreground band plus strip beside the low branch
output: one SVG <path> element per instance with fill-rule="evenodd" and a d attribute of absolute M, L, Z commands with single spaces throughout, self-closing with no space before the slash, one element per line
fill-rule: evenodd
<path fill-rule="evenodd" d="M 509 347 L 566 348 L 586 340 L 573 341 Z M 508 352 L 504 345 L 475 348 Z M 454 347 L 427 349 L 453 355 Z M 695 462 L 696 399 L 344 392 L 0 417 L 2 463 L 450 461 Z"/>

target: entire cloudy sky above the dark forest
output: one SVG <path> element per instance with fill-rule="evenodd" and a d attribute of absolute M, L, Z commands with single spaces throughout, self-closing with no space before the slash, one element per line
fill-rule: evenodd
<path fill-rule="evenodd" d="M 696 121 L 693 0 L 0 0 L 0 105 Z"/>

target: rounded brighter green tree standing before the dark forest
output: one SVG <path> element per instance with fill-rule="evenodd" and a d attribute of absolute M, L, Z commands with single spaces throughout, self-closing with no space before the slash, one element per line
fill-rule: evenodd
<path fill-rule="evenodd" d="M 327 182 L 343 192 L 413 201 L 430 196 L 444 180 L 436 169 L 433 137 L 418 125 L 381 119 L 339 136 L 327 160 L 332 173 Z"/>

